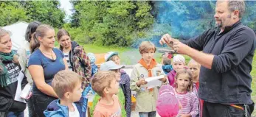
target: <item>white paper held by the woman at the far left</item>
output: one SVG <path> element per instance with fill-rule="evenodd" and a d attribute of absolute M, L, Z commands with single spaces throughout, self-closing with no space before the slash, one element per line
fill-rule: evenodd
<path fill-rule="evenodd" d="M 26 103 L 26 101 L 24 99 L 21 99 L 21 96 L 20 96 L 21 95 L 21 82 L 22 82 L 23 78 L 24 78 L 24 74 L 22 73 L 22 70 L 21 70 L 20 73 L 18 74 L 18 85 L 17 85 L 14 100 L 18 101 L 18 102 Z"/>

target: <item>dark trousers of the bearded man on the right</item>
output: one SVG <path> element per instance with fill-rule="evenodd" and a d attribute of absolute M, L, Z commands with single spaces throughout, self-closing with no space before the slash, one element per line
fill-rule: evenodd
<path fill-rule="evenodd" d="M 218 104 L 204 102 L 203 105 L 203 117 L 251 117 L 254 109 L 254 104 L 236 104 L 238 107 L 232 107 L 229 104 Z M 247 110 L 247 111 L 246 111 Z M 246 116 L 247 114 L 247 116 Z"/>

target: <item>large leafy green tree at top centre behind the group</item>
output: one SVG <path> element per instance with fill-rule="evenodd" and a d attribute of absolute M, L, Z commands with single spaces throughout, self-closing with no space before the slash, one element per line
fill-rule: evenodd
<path fill-rule="evenodd" d="M 145 36 L 153 24 L 149 1 L 72 1 L 75 15 L 71 26 L 79 26 L 78 40 L 99 45 L 130 46 L 135 35 Z M 81 36 L 80 36 L 81 37 Z"/>

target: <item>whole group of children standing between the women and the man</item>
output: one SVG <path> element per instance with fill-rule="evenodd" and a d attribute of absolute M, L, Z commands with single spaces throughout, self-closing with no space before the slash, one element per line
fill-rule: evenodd
<path fill-rule="evenodd" d="M 201 103 L 197 93 L 200 65 L 196 61 L 190 60 L 186 66 L 185 58 L 181 54 L 172 57 L 167 53 L 162 55 L 162 64 L 159 64 L 153 58 L 155 52 L 156 47 L 153 43 L 149 41 L 141 43 L 139 53 L 142 57 L 134 65 L 131 78 L 122 70 L 124 66 L 120 65 L 120 57 L 117 52 L 105 54 L 105 63 L 100 65 L 99 71 L 94 63 L 94 54 L 89 53 L 92 71 L 91 88 L 96 92 L 89 116 L 130 117 L 131 91 L 135 91 L 135 111 L 139 113 L 139 117 L 155 117 L 157 113 L 156 102 L 159 102 L 159 88 L 162 85 L 170 85 L 174 89 L 172 94 L 179 102 L 179 112 L 176 112 L 175 116 L 200 116 Z M 159 78 L 160 85 L 150 87 L 146 79 L 160 75 L 165 76 Z M 82 96 L 84 91 L 81 89 L 81 79 L 82 77 L 73 71 L 59 71 L 55 75 L 52 88 L 59 99 L 49 104 L 44 111 L 45 116 L 85 115 L 85 111 L 81 110 L 84 104 L 83 98 L 86 97 Z M 86 94 L 83 93 L 83 95 Z M 172 98 L 172 96 L 167 98 Z M 159 115 L 167 117 L 168 113 L 160 113 Z"/>

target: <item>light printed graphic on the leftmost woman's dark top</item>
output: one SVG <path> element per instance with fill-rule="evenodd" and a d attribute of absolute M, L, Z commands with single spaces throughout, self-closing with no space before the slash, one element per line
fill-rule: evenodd
<path fill-rule="evenodd" d="M 14 63 L 7 63 L 5 67 L 7 68 L 7 74 L 9 75 L 9 79 L 7 79 L 7 85 L 10 85 L 18 80 L 17 77 L 20 70 L 18 65 L 15 65 Z"/>

